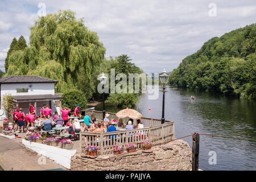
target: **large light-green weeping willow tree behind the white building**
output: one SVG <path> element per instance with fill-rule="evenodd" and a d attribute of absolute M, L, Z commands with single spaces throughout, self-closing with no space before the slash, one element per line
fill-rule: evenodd
<path fill-rule="evenodd" d="M 83 19 L 77 20 L 73 11 L 60 10 L 57 14 L 41 16 L 30 31 L 30 46 L 14 52 L 16 61 L 25 64 L 26 71 L 18 68 L 13 57 L 7 75 L 57 79 L 56 91 L 64 92 L 68 88 L 76 89 L 79 77 L 89 79 L 104 59 L 106 49 L 97 33 L 88 30 Z"/>

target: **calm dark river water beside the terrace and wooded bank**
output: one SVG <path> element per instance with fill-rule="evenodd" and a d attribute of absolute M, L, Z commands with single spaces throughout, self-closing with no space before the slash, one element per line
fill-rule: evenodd
<path fill-rule="evenodd" d="M 182 88 L 168 87 L 166 90 L 164 117 L 175 122 L 176 138 L 195 132 L 225 136 L 213 138 L 200 135 L 200 169 L 256 170 L 255 101 Z M 189 100 L 191 96 L 195 96 L 196 100 Z M 162 92 L 156 100 L 148 100 L 148 94 L 143 94 L 134 109 L 143 117 L 160 119 Z M 98 105 L 96 110 L 102 110 L 102 105 Z M 106 105 L 107 112 L 116 113 L 118 110 Z M 192 147 L 192 137 L 183 140 Z"/>

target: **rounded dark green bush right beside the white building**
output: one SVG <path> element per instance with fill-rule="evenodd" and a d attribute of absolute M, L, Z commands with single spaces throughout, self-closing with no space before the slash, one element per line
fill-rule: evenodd
<path fill-rule="evenodd" d="M 85 94 L 80 90 L 69 90 L 62 94 L 62 107 L 68 107 L 71 110 L 75 110 L 77 104 L 80 105 L 80 109 L 86 109 L 86 98 Z"/>

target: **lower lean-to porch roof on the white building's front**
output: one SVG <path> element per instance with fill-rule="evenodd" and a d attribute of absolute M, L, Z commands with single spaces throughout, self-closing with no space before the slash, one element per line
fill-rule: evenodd
<path fill-rule="evenodd" d="M 13 100 L 14 102 L 52 101 L 52 100 L 61 100 L 61 97 L 55 96 L 53 94 L 23 95 L 23 96 L 13 96 Z"/>

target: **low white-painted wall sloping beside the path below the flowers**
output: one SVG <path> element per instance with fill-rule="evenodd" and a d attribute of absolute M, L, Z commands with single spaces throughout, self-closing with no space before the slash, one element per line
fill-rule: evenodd
<path fill-rule="evenodd" d="M 71 168 L 71 157 L 76 154 L 76 150 L 66 150 L 47 144 L 30 142 L 26 139 L 22 139 L 22 144 L 68 169 Z"/>

